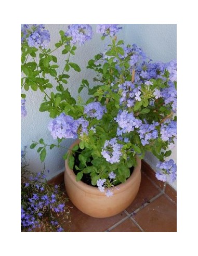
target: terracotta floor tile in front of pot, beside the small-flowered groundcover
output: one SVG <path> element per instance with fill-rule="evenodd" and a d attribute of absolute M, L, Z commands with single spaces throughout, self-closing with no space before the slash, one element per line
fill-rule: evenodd
<path fill-rule="evenodd" d="M 124 219 L 124 212 L 108 218 L 94 218 L 78 210 L 70 201 L 68 206 L 72 207 L 70 232 L 104 232 L 118 221 Z"/>

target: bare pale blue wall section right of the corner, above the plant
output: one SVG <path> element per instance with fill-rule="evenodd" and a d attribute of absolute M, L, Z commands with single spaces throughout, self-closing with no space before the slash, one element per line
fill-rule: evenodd
<path fill-rule="evenodd" d="M 154 61 L 177 58 L 176 24 L 126 24 L 125 43 L 135 43 Z"/>

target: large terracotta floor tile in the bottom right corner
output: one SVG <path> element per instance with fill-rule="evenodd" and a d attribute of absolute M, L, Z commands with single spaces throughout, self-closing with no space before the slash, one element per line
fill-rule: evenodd
<path fill-rule="evenodd" d="M 141 209 L 133 218 L 144 232 L 177 232 L 177 207 L 165 195 Z"/>

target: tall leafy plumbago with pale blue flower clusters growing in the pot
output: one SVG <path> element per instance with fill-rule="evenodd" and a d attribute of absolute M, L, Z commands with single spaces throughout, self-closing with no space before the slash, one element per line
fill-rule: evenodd
<path fill-rule="evenodd" d="M 71 97 L 67 83 L 70 69 L 81 71 L 71 59 L 78 44 L 91 40 L 91 26 L 69 25 L 60 31 L 60 40 L 52 50 L 43 24 L 25 24 L 21 30 L 21 88 L 39 89 L 44 94 L 39 111 L 49 112 L 48 129 L 57 139 L 57 144 L 48 145 L 41 138 L 31 148 L 38 146 L 44 161 L 47 147 L 61 147 L 63 140 L 79 138 L 79 146 L 63 157 L 77 171 L 77 181 L 89 175 L 91 184 L 101 192 L 108 188 L 107 196 L 113 195 L 113 186 L 130 176 L 136 155 L 143 159 L 146 151 L 160 160 L 159 180 L 166 181 L 168 176 L 172 182 L 176 180 L 176 164 L 172 159 L 166 161 L 176 141 L 176 61 L 153 62 L 137 45 L 117 40 L 121 29 L 118 24 L 97 25 L 96 32 L 102 40 L 109 39 L 109 44 L 88 61 L 87 69 L 94 70 L 96 77 L 94 85 L 83 79 L 78 88 L 78 94 L 86 89 L 90 96 L 85 103 L 80 96 L 77 101 Z M 56 50 L 65 55 L 63 70 L 57 65 Z M 46 76 L 54 82 L 49 83 Z M 25 94 L 21 97 L 25 116 Z"/>

